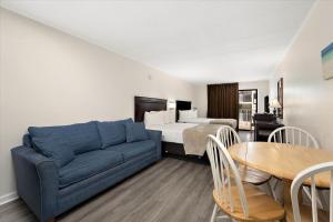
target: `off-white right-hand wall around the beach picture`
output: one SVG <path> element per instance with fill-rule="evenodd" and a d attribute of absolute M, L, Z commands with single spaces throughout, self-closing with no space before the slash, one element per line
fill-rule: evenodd
<path fill-rule="evenodd" d="M 321 50 L 333 41 L 333 1 L 317 1 L 274 77 L 284 78 L 284 123 L 310 131 L 324 149 L 333 151 L 333 80 L 325 81 Z"/>

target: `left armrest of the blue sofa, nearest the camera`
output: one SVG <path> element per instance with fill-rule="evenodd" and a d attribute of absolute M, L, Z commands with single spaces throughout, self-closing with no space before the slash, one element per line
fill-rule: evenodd
<path fill-rule="evenodd" d="M 13 148 L 11 154 L 18 194 L 40 221 L 53 219 L 59 184 L 56 163 L 27 147 Z"/>

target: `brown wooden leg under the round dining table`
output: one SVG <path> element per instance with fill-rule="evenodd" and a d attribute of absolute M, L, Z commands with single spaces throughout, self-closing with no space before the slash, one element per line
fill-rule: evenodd
<path fill-rule="evenodd" d="M 292 208 L 292 202 L 291 202 L 291 184 L 292 184 L 292 181 L 283 180 L 283 205 L 284 205 L 284 211 L 285 211 L 285 220 L 287 222 L 294 221 L 293 208 Z M 299 203 L 301 204 L 302 202 L 303 202 L 302 189 L 300 189 Z"/>

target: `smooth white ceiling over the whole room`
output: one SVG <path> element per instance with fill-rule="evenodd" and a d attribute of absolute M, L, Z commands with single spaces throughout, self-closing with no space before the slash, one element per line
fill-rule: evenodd
<path fill-rule="evenodd" d="M 269 79 L 314 0 L 0 0 L 192 82 Z"/>

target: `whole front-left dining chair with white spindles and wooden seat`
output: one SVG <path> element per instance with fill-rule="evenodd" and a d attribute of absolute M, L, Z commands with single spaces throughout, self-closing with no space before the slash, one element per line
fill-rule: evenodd
<path fill-rule="evenodd" d="M 250 183 L 242 183 L 226 148 L 214 135 L 209 135 L 206 153 L 214 180 L 215 205 L 211 222 L 225 216 L 238 221 L 276 221 L 284 218 L 283 208 L 271 196 Z M 218 216 L 219 210 L 226 215 Z"/>

